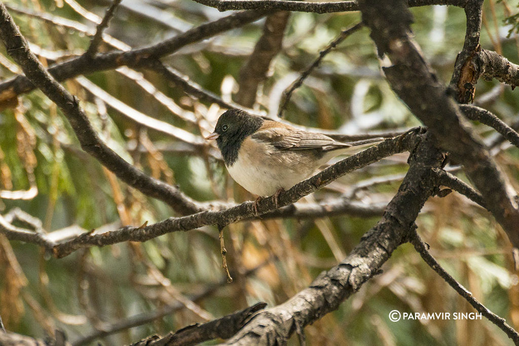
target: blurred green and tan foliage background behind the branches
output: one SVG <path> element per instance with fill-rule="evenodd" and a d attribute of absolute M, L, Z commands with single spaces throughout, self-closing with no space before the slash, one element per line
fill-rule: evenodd
<path fill-rule="evenodd" d="M 105 0 L 4 3 L 46 65 L 82 54 L 110 5 Z M 514 63 L 519 62 L 519 40 L 516 33 L 509 35 L 514 18 L 508 22 L 506 18 L 519 11 L 516 6 L 511 1 L 486 1 L 481 32 L 484 48 Z M 415 39 L 447 84 L 463 45 L 465 13 L 451 6 L 413 8 L 412 12 Z M 188 0 L 124 0 L 105 32 L 101 51 L 155 44 L 230 13 Z M 360 21 L 358 12 L 293 12 L 285 17 L 282 48 L 255 92 L 256 102 L 244 105 L 272 117 L 283 91 L 320 50 Z M 188 45 L 162 61 L 226 102 L 238 102 L 240 70 L 264 23 L 263 19 Z M 294 92 L 284 112 L 286 120 L 347 135 L 398 132 L 420 125 L 381 75 L 368 35 L 362 28 L 324 57 Z M 19 73 L 1 47 L 2 80 Z M 220 154 L 211 147 L 214 143 L 194 145 L 212 132 L 223 112 L 219 106 L 189 96 L 181 85 L 159 74 L 126 67 L 78 76 L 63 85 L 81 100 L 103 140 L 148 175 L 179 185 L 199 201 L 241 203 L 255 198 L 228 176 Z M 519 125 L 519 98 L 509 86 L 480 80 L 474 104 L 515 128 Z M 87 232 L 175 216 L 167 205 L 121 183 L 81 151 L 66 119 L 41 92 L 0 106 L 0 212 L 6 218 L 18 214 L 27 219 L 26 213 L 44 232 Z M 157 131 L 146 116 L 185 132 Z M 500 140 L 492 129 L 473 126 L 519 190 L 517 148 Z M 60 329 L 75 345 L 119 345 L 218 318 L 257 301 L 280 304 L 346 257 L 376 224 L 407 170 L 406 160 L 407 153 L 394 155 L 300 201 L 348 199 L 367 210 L 361 215 L 246 221 L 227 227 L 227 261 L 234 278 L 230 284 L 221 268 L 215 227 L 167 234 L 145 243 L 89 248 L 62 259 L 35 244 L 8 241 L 0 235 L 0 316 L 8 330 L 20 334 L 43 338 Z M 448 169 L 467 181 L 457 167 Z M 448 272 L 519 328 L 519 286 L 511 247 L 489 213 L 452 193 L 431 198 L 417 224 L 431 253 Z M 395 309 L 474 310 L 422 262 L 410 244 L 399 247 L 383 269 L 339 310 L 307 326 L 308 344 L 511 343 L 484 319 L 391 322 L 388 314 Z M 297 337 L 289 344 L 298 344 Z"/>

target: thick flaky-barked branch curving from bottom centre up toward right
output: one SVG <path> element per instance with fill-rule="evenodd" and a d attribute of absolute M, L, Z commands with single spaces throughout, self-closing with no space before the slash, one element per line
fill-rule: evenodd
<path fill-rule="evenodd" d="M 295 330 L 302 330 L 337 309 L 406 241 L 420 209 L 436 187 L 431 168 L 440 167 L 442 161 L 442 154 L 431 141 L 422 141 L 409 156 L 409 170 L 384 216 L 362 237 L 351 254 L 288 301 L 257 313 L 226 344 L 285 344 Z"/>

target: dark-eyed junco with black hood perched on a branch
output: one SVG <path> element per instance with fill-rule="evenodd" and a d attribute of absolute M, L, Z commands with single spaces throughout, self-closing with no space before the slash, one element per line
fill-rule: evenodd
<path fill-rule="evenodd" d="M 323 134 L 230 109 L 220 116 L 214 132 L 206 139 L 216 139 L 230 176 L 245 190 L 261 197 L 277 196 L 292 188 L 353 146 L 384 138 L 342 143 Z"/>

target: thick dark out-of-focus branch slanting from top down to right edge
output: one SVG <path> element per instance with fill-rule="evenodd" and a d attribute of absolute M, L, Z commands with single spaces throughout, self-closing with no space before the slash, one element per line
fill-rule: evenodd
<path fill-rule="evenodd" d="M 440 148 L 463 164 L 467 175 L 485 200 L 514 247 L 519 247 L 519 209 L 508 184 L 483 147 L 463 121 L 454 100 L 411 40 L 411 13 L 402 1 L 361 2 L 364 22 L 371 27 L 380 54 L 387 54 L 391 67 L 384 69 L 391 88 L 438 141 Z"/>

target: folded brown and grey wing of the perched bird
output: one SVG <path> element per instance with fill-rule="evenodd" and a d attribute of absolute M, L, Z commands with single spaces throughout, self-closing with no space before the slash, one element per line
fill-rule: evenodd
<path fill-rule="evenodd" d="M 337 142 L 319 133 L 301 131 L 284 124 L 281 127 L 279 123 L 276 123 L 277 126 L 270 122 L 266 123 L 266 126 L 262 126 L 260 131 L 252 135 L 252 138 L 270 143 L 280 150 L 322 149 L 326 151 L 350 147 L 349 144 Z"/>

